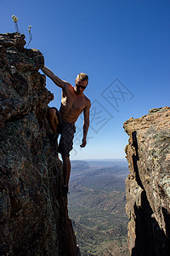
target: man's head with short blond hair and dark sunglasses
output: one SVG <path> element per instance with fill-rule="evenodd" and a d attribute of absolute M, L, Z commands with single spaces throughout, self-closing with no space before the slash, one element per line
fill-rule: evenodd
<path fill-rule="evenodd" d="M 77 93 L 81 94 L 88 85 L 88 75 L 86 73 L 79 73 L 77 79 L 75 80 L 75 90 Z"/>

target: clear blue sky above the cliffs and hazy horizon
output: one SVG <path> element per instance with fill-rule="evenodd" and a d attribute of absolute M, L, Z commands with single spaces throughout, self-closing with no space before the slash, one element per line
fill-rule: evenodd
<path fill-rule="evenodd" d="M 77 73 L 88 73 L 88 145 L 79 147 L 80 117 L 71 160 L 124 158 L 123 122 L 170 105 L 169 0 L 0 0 L 0 9 L 0 32 L 15 32 L 16 15 L 28 41 L 31 25 L 29 48 L 60 79 L 74 85 Z M 50 79 L 47 87 L 49 106 L 59 108 L 60 89 Z"/>

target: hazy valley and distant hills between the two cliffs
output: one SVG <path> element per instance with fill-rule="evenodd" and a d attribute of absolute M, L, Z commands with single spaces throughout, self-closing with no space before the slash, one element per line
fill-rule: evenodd
<path fill-rule="evenodd" d="M 71 162 L 69 215 L 82 255 L 128 255 L 125 160 Z"/>

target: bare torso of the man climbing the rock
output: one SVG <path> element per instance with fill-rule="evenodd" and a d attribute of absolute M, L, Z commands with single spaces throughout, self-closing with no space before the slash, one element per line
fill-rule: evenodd
<path fill-rule="evenodd" d="M 62 90 L 59 113 L 65 122 L 75 124 L 79 115 L 89 104 L 90 101 L 87 96 L 83 93 L 77 94 L 74 87 L 72 87 L 71 84 L 68 84 L 65 86 L 65 89 Z"/>

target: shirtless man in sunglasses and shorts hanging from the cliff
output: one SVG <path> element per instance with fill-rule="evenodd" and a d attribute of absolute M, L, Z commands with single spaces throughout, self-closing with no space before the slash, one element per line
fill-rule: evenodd
<path fill-rule="evenodd" d="M 79 73 L 77 75 L 77 79 L 75 80 L 75 87 L 72 87 L 71 84 L 59 79 L 56 75 L 54 75 L 54 73 L 49 70 L 48 67 L 42 67 L 42 72 L 52 79 L 54 84 L 62 88 L 61 107 L 59 109 L 59 114 L 62 119 L 62 131 L 58 152 L 62 156 L 64 165 L 63 192 L 64 194 L 67 194 L 71 175 L 70 151 L 72 149 L 74 133 L 76 132 L 75 123 L 82 111 L 84 114 L 84 122 L 83 138 L 80 147 L 84 148 L 87 144 L 86 138 L 88 134 L 89 110 L 91 107 L 91 102 L 83 92 L 88 85 L 88 75 L 85 73 Z M 49 123 L 54 133 L 57 133 L 59 119 L 56 108 L 49 109 Z"/>

